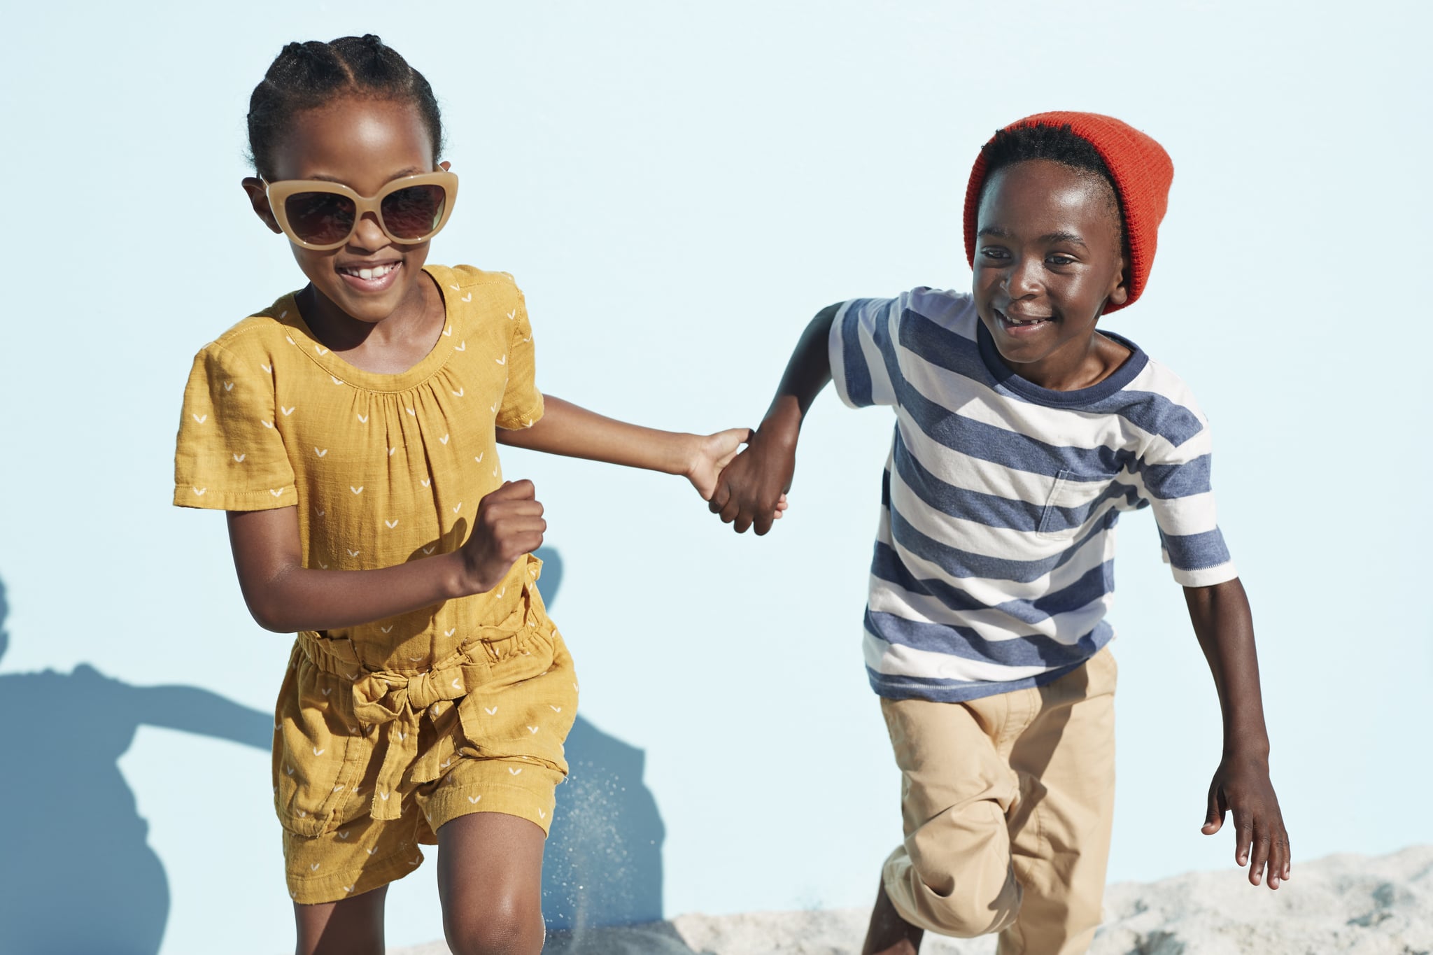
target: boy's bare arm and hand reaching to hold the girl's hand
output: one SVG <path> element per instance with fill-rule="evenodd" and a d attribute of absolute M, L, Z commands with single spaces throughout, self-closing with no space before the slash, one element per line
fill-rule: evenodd
<path fill-rule="evenodd" d="M 744 534 L 755 525 L 757 534 L 771 530 L 780 517 L 778 503 L 791 490 L 797 467 L 797 438 L 801 421 L 815 397 L 831 381 L 831 322 L 840 305 L 815 314 L 791 352 L 787 371 L 777 387 L 777 397 L 767 408 L 761 427 L 752 432 L 747 450 L 737 455 L 716 480 L 711 511 L 722 523 Z"/>

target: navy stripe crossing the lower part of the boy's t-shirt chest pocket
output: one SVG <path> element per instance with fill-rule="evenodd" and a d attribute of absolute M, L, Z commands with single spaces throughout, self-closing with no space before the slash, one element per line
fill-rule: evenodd
<path fill-rule="evenodd" d="M 976 521 L 986 527 L 1015 531 L 1065 531 L 1083 525 L 1089 515 L 1103 507 L 1106 501 L 1121 500 L 1125 504 L 1123 510 L 1135 510 L 1142 504 L 1138 488 L 1119 481 L 1111 481 L 1099 497 L 1079 507 L 1042 507 L 1029 501 L 960 488 L 941 481 L 921 464 L 911 454 L 898 430 L 893 457 L 896 458 L 896 471 L 921 503 L 950 517 Z"/>

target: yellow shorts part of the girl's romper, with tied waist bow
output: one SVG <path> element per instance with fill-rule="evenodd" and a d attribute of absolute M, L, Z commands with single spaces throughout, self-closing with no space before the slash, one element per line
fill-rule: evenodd
<path fill-rule="evenodd" d="M 474 812 L 546 833 L 567 773 L 577 679 L 552 624 L 473 640 L 428 670 L 371 673 L 301 634 L 279 693 L 274 800 L 295 902 L 335 902 L 411 872 Z"/>

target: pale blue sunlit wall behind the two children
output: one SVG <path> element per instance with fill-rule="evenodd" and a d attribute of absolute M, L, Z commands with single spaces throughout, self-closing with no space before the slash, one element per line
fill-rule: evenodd
<path fill-rule="evenodd" d="M 1297 856 L 1433 839 L 1426 10 L 17 4 L 0 60 L 0 672 L 87 663 L 271 707 L 289 641 L 248 619 L 222 518 L 169 490 L 192 354 L 299 283 L 238 188 L 246 97 L 284 42 L 374 30 L 424 70 L 463 176 L 434 261 L 519 278 L 547 391 L 678 430 L 755 424 L 828 302 L 967 286 L 979 143 L 1089 109 L 1175 160 L 1149 291 L 1111 328 L 1214 422 Z M 668 915 L 874 891 L 897 776 L 858 633 L 890 427 L 824 395 L 764 540 L 676 478 L 506 458 L 566 557 L 583 713 L 646 752 Z M 1212 686 L 1151 518 L 1122 527 L 1111 878 L 1225 866 L 1227 833 L 1198 833 Z M 46 719 L 0 712 L 4 733 Z M 288 946 L 267 755 L 143 727 L 120 769 L 168 873 L 163 951 Z M 390 942 L 440 935 L 431 865 L 390 901 Z"/>

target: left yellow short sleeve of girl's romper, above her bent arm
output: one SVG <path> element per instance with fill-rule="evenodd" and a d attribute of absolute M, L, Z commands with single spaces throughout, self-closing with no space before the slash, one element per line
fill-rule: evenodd
<path fill-rule="evenodd" d="M 297 504 L 274 424 L 272 362 L 209 345 L 193 359 L 175 444 L 178 507 L 262 511 Z"/>

